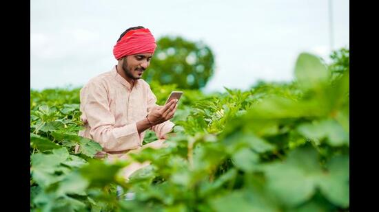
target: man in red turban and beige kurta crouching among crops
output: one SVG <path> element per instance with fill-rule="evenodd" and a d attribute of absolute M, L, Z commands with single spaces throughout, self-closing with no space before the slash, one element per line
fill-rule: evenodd
<path fill-rule="evenodd" d="M 141 79 L 155 49 L 150 30 L 144 27 L 125 30 L 113 49 L 117 64 L 81 89 L 80 110 L 85 129 L 79 135 L 99 142 L 103 151 L 97 157 L 122 158 L 130 150 L 140 149 L 147 129 L 154 130 L 161 139 L 150 143 L 159 148 L 172 130 L 174 123 L 169 120 L 174 116 L 177 100 L 165 106 L 156 105 L 149 84 Z M 141 165 L 131 167 L 133 170 L 126 177 Z"/>

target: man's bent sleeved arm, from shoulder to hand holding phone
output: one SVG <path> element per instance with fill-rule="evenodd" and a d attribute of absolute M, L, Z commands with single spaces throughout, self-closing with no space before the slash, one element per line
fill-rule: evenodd
<path fill-rule="evenodd" d="M 148 118 L 152 124 L 144 118 L 116 128 L 105 87 L 101 83 L 91 82 L 81 91 L 81 111 L 88 120 L 90 135 L 104 151 L 127 150 L 141 146 L 141 132 L 170 119 L 173 115 L 169 111 L 172 110 L 170 106 L 153 109 Z"/>

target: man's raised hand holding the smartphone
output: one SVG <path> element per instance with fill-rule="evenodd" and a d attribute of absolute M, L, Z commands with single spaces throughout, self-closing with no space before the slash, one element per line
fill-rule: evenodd
<path fill-rule="evenodd" d="M 165 106 L 156 106 L 152 108 L 152 111 L 147 116 L 147 119 L 149 119 L 149 121 L 151 121 L 154 125 L 172 119 L 176 108 L 178 107 L 176 102 L 178 102 L 178 99 L 172 99 Z"/>

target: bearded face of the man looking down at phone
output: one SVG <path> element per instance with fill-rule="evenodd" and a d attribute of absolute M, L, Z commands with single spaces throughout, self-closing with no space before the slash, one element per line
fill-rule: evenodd
<path fill-rule="evenodd" d="M 142 73 L 149 67 L 152 54 L 134 54 L 123 58 L 123 70 L 128 78 L 138 80 L 142 78 Z"/>

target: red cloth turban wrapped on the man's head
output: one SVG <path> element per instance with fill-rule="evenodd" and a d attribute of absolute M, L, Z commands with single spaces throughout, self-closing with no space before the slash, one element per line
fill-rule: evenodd
<path fill-rule="evenodd" d="M 155 48 L 155 39 L 149 29 L 130 30 L 114 45 L 113 55 L 119 60 L 133 54 L 154 54 Z"/>

